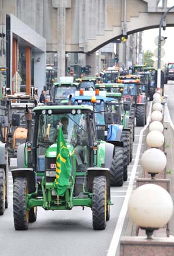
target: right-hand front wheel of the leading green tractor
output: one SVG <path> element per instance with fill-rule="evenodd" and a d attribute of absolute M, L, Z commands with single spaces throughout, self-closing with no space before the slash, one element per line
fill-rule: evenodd
<path fill-rule="evenodd" d="M 92 223 L 93 229 L 106 228 L 107 212 L 107 185 L 105 176 L 96 176 L 93 179 Z"/>

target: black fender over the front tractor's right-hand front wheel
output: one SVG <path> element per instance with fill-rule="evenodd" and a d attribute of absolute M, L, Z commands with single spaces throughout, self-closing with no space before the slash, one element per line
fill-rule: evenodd
<path fill-rule="evenodd" d="M 110 200 L 110 169 L 109 168 L 100 168 L 100 167 L 90 167 L 87 170 L 88 172 L 88 192 L 92 193 L 93 188 L 93 179 L 96 176 L 105 176 L 107 183 L 107 200 Z"/>

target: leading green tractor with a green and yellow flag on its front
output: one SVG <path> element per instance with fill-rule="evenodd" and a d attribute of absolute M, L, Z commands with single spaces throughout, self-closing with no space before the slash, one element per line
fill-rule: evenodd
<path fill-rule="evenodd" d="M 92 209 L 93 229 L 105 229 L 114 145 L 97 140 L 93 107 L 38 106 L 33 111 L 35 132 L 32 136 L 28 113 L 27 141 L 18 147 L 17 169 L 12 170 L 14 228 L 28 229 L 37 207 L 81 206 Z M 105 120 L 111 122 L 110 113 Z"/>

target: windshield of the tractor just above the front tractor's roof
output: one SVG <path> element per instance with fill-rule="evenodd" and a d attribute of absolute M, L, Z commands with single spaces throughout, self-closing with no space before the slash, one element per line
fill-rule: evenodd
<path fill-rule="evenodd" d="M 76 90 L 76 86 L 55 86 L 55 99 L 66 99 L 70 94 L 74 96 Z"/>

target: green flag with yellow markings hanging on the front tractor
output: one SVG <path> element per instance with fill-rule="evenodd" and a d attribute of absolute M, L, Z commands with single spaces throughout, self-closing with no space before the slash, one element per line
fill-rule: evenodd
<path fill-rule="evenodd" d="M 58 196 L 64 196 L 71 175 L 70 152 L 64 140 L 60 125 L 57 136 L 56 179 L 53 188 Z"/>

